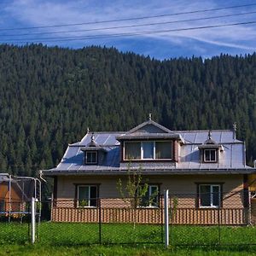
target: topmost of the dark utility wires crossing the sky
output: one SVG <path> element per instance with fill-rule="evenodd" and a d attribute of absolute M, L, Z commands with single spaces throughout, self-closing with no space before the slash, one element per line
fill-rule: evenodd
<path fill-rule="evenodd" d="M 250 3 L 250 4 L 243 4 L 243 5 L 228 6 L 228 7 L 223 7 L 223 8 L 201 9 L 201 10 L 187 11 L 187 12 L 180 12 L 180 13 L 166 14 L 166 15 L 151 15 L 151 16 L 125 18 L 125 19 L 117 19 L 117 20 L 89 21 L 89 22 L 82 22 L 82 23 L 69 23 L 69 24 L 52 25 L 52 26 L 26 26 L 26 27 L 16 27 L 16 28 L 15 27 L 0 28 L 0 31 L 29 30 L 29 29 L 61 27 L 61 26 L 81 26 L 81 25 L 111 23 L 111 22 L 119 22 L 119 21 L 127 21 L 127 20 L 145 20 L 145 19 L 176 16 L 176 15 L 188 15 L 188 14 L 205 13 L 205 12 L 216 11 L 216 10 L 224 10 L 224 9 L 238 9 L 238 8 L 243 8 L 243 7 L 252 7 L 252 6 L 255 6 L 255 5 L 256 5 L 256 3 Z"/>

